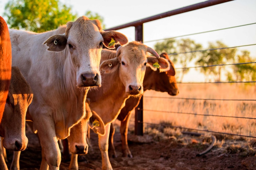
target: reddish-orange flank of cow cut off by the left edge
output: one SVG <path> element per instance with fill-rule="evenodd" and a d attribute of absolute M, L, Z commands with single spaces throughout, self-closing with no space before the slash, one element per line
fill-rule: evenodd
<path fill-rule="evenodd" d="M 11 80 L 12 47 L 6 22 L 0 16 L 0 124 Z"/>

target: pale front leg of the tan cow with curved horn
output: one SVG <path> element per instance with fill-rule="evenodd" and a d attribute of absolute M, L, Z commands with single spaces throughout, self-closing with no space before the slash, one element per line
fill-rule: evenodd
<path fill-rule="evenodd" d="M 99 149 L 100 149 L 101 158 L 102 158 L 102 170 L 113 170 L 108 157 L 109 131 L 110 131 L 110 123 L 105 126 L 105 135 L 104 136 L 98 135 Z"/>

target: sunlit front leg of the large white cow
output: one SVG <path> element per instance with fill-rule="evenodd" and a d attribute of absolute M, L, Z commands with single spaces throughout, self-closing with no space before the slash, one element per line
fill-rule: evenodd
<path fill-rule="evenodd" d="M 48 168 L 50 170 L 59 170 L 61 152 L 52 117 L 42 116 L 41 114 L 39 119 L 34 119 L 34 124 L 42 147 L 40 170 L 47 170 Z"/>

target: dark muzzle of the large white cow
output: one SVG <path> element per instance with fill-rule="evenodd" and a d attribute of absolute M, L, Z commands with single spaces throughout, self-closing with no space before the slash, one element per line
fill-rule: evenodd
<path fill-rule="evenodd" d="M 94 87 L 101 85 L 101 78 L 100 75 L 97 73 L 85 73 L 81 75 L 82 79 L 82 86 L 83 87 Z"/>

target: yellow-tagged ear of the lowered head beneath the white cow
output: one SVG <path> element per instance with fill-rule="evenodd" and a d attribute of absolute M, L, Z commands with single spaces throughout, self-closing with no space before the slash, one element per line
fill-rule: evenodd
<path fill-rule="evenodd" d="M 92 111 L 92 116 L 90 117 L 88 125 L 94 133 L 101 136 L 105 135 L 105 124 L 95 111 Z"/>

